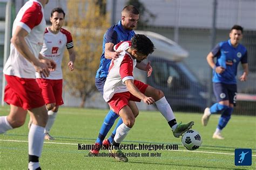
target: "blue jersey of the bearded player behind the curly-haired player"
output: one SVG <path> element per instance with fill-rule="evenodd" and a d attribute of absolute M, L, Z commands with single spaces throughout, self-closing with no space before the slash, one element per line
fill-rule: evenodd
<path fill-rule="evenodd" d="M 110 59 L 105 58 L 105 44 L 107 42 L 112 42 L 114 45 L 118 44 L 121 41 L 130 41 L 131 38 L 135 35 L 133 30 L 125 30 L 122 27 L 121 21 L 116 25 L 111 26 L 103 38 L 102 45 L 102 56 L 100 56 L 99 69 L 97 70 L 96 78 L 106 77 L 109 74 Z"/>

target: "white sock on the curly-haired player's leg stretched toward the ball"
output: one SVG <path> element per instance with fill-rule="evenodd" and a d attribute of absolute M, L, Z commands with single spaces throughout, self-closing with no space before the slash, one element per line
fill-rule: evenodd
<path fill-rule="evenodd" d="M 166 121 L 169 122 L 172 119 L 175 119 L 175 116 L 172 112 L 170 104 L 166 101 L 165 96 L 156 101 L 157 109 L 165 117 Z"/>

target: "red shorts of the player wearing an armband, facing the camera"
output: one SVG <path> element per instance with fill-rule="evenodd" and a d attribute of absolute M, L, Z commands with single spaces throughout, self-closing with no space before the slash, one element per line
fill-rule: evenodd
<path fill-rule="evenodd" d="M 56 105 L 62 105 L 62 79 L 50 80 L 50 79 L 36 79 L 39 87 L 42 89 L 42 95 L 45 104 L 56 103 Z"/>

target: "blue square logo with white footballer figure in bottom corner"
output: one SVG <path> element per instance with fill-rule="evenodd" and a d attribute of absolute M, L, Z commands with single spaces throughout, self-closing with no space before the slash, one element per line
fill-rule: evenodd
<path fill-rule="evenodd" d="M 252 150 L 248 148 L 235 149 L 235 166 L 251 166 Z"/>

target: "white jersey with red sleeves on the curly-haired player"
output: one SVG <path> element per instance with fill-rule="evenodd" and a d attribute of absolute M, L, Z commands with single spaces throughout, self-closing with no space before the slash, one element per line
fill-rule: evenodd
<path fill-rule="evenodd" d="M 131 41 L 123 41 L 114 46 L 114 51 L 122 50 L 119 58 L 112 60 L 104 84 L 103 98 L 106 102 L 111 100 L 114 94 L 128 91 L 125 85 L 126 80 L 134 80 L 133 69 L 136 66 L 136 59 L 126 52 L 131 47 Z"/>

